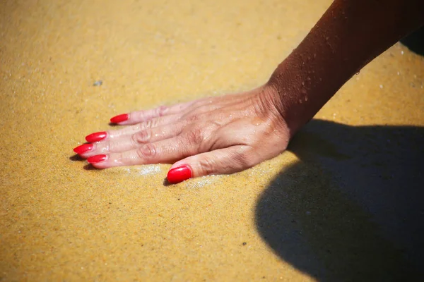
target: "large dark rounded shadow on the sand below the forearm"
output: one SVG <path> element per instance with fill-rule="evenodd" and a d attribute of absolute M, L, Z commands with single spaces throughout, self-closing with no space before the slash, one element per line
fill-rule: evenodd
<path fill-rule="evenodd" d="M 311 121 L 259 198 L 257 228 L 319 281 L 423 281 L 424 128 Z"/>

